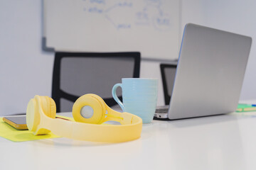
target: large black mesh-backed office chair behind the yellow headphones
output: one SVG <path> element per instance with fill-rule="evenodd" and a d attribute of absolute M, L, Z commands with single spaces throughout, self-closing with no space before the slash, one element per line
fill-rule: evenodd
<path fill-rule="evenodd" d="M 83 94 L 97 94 L 108 106 L 112 86 L 122 78 L 139 78 L 139 52 L 56 52 L 53 66 L 52 97 L 57 112 L 70 112 L 75 100 Z M 117 91 L 121 98 L 121 92 Z"/>

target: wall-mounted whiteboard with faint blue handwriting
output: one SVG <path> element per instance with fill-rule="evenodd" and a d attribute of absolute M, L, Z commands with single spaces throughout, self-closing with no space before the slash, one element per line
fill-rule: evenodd
<path fill-rule="evenodd" d="M 179 0 L 44 0 L 46 48 L 178 58 Z"/>

